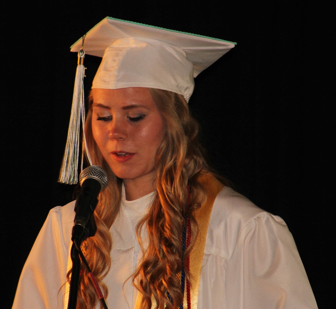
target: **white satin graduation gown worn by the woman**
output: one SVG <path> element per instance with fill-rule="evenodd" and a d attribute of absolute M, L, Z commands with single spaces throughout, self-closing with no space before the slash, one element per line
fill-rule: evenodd
<path fill-rule="evenodd" d="M 154 194 L 126 201 L 123 192 L 121 212 L 111 227 L 112 267 L 104 280 L 110 309 L 135 306 L 137 290 L 131 280 L 124 282 L 140 258 L 135 226 Z M 67 308 L 69 286 L 61 286 L 72 267 L 74 205 L 50 210 L 20 276 L 13 309 Z M 216 197 L 209 222 L 198 308 L 317 308 L 285 222 L 228 187 Z"/>

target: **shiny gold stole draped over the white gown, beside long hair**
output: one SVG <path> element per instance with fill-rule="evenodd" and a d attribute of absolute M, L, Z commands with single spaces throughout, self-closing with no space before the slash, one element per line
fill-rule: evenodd
<path fill-rule="evenodd" d="M 212 211 L 213 203 L 216 196 L 224 187 L 215 177 L 210 174 L 202 174 L 198 181 L 204 187 L 207 192 L 206 202 L 195 211 L 195 218 L 198 223 L 198 235 L 195 241 L 193 250 L 190 253 L 190 285 L 191 285 L 191 308 L 197 309 L 198 302 L 198 290 L 201 279 L 201 268 L 203 262 L 203 253 L 205 247 L 205 240 L 207 237 L 208 225 L 210 221 L 210 215 Z M 135 309 L 141 309 L 142 294 L 139 292 L 136 298 Z M 156 302 L 152 300 L 152 308 L 155 308 Z M 184 289 L 184 301 L 183 308 L 187 308 L 186 289 Z"/>

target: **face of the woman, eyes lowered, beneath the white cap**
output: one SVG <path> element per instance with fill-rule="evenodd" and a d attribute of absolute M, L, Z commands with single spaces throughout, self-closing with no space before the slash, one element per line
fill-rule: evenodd
<path fill-rule="evenodd" d="M 164 123 L 147 88 L 92 89 L 92 133 L 103 158 L 124 183 L 154 180 Z"/>

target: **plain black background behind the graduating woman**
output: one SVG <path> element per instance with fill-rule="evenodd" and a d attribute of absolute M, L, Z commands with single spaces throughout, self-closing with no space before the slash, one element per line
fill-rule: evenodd
<path fill-rule="evenodd" d="M 191 112 L 211 165 L 286 221 L 319 308 L 330 308 L 329 8 L 298 1 L 157 2 L 30 2 L 2 10 L 3 308 L 11 307 L 48 211 L 72 200 L 73 187 L 57 184 L 77 65 L 70 46 L 106 16 L 238 43 L 195 79 Z M 85 58 L 86 94 L 99 61 Z"/>

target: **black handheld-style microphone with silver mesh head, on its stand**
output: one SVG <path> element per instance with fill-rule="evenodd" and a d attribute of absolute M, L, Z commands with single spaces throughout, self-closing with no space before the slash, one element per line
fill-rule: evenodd
<path fill-rule="evenodd" d="M 81 244 L 97 230 L 93 212 L 98 203 L 98 194 L 106 189 L 109 180 L 100 166 L 91 165 L 81 172 L 79 182 L 81 190 L 76 200 L 71 240 Z"/>

